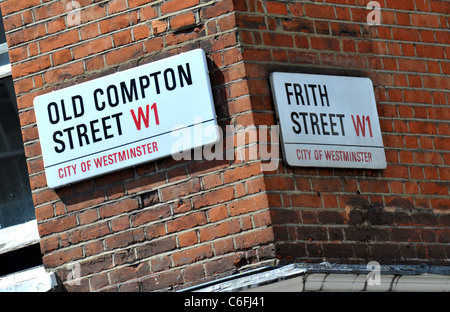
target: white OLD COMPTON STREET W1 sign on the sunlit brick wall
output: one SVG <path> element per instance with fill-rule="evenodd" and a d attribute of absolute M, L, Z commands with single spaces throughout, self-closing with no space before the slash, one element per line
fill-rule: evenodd
<path fill-rule="evenodd" d="M 34 109 L 51 188 L 218 139 L 201 49 L 38 96 Z M 176 151 L 179 152 L 179 151 Z"/>

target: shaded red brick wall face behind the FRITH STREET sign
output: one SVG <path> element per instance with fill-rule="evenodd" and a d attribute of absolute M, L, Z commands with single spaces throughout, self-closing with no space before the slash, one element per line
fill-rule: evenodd
<path fill-rule="evenodd" d="M 449 3 L 247 1 L 236 13 L 252 101 L 273 119 L 273 71 L 371 78 L 386 170 L 287 168 L 264 175 L 277 257 L 447 263 Z M 447 14 L 447 15 L 446 15 Z"/>

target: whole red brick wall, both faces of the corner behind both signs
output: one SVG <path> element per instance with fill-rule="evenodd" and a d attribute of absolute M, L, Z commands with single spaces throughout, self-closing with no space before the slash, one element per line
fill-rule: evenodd
<path fill-rule="evenodd" d="M 380 1 L 382 25 L 369 26 L 366 2 L 3 1 L 46 268 L 71 291 L 133 291 L 276 260 L 448 261 L 448 4 Z M 387 169 L 263 171 L 249 135 L 232 159 L 169 157 L 47 187 L 34 97 L 195 48 L 232 145 L 275 124 L 272 71 L 370 77 Z"/>

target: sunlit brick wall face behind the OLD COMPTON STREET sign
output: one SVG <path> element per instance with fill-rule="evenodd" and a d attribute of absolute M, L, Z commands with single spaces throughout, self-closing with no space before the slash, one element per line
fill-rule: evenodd
<path fill-rule="evenodd" d="M 67 3 L 2 3 L 46 268 L 64 282 L 78 265 L 81 278 L 69 290 L 130 291 L 189 285 L 273 260 L 257 160 L 169 157 L 46 186 L 37 95 L 202 48 L 224 130 L 250 111 L 232 1 L 79 1 L 81 23 L 73 26 L 68 13 L 76 11 Z"/>

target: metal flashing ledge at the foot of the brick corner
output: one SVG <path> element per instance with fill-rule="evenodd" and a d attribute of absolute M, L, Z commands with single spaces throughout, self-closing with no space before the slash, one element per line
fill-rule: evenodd
<path fill-rule="evenodd" d="M 367 265 L 295 263 L 263 267 L 182 291 L 450 291 L 450 266 L 380 265 L 377 283 L 370 283 L 371 274 Z"/>

